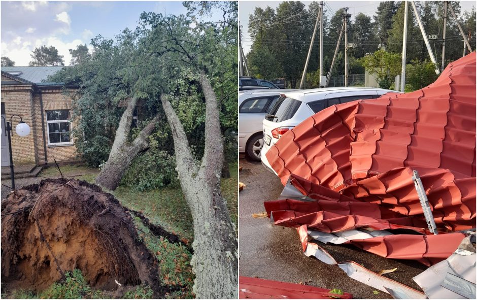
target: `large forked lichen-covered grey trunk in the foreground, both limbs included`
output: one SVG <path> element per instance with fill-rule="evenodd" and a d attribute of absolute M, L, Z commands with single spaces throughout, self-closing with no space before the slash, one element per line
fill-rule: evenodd
<path fill-rule="evenodd" d="M 224 155 L 219 110 L 214 90 L 203 72 L 199 82 L 206 97 L 206 147 L 200 166 L 190 153 L 184 128 L 171 103 L 167 96 L 161 96 L 173 133 L 179 180 L 194 225 L 193 291 L 197 298 L 237 298 L 237 237 L 220 192 Z"/>

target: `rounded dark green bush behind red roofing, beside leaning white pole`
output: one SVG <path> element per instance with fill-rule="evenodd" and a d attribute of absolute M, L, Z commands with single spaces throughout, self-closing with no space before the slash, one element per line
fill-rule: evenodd
<path fill-rule="evenodd" d="M 432 61 L 424 60 L 422 62 L 411 60 L 410 64 L 406 64 L 406 83 L 411 86 L 412 90 L 418 90 L 428 86 L 437 79 L 435 74 L 435 65 Z"/>

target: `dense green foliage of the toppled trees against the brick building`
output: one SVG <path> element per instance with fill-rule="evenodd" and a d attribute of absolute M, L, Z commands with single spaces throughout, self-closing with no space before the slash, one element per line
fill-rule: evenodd
<path fill-rule="evenodd" d="M 138 128 L 132 130 L 132 140 L 157 112 L 163 113 L 160 94 L 171 92 L 181 95 L 178 97 L 180 101 L 173 106 L 190 144 L 196 146 L 196 157 L 202 157 L 205 102 L 193 71 L 195 66 L 186 65 L 182 60 L 183 54 L 178 53 L 181 48 L 168 36 L 171 33 L 177 36 L 177 43 L 187 40 L 182 45 L 184 49 L 191 51 L 191 55 L 195 55 L 199 63 L 211 72 L 221 107 L 225 142 L 236 145 L 236 140 L 232 139 L 232 133 L 237 131 L 236 3 L 213 3 L 212 9 L 225 11 L 225 14 L 223 11 L 220 14 L 224 14 L 225 21 L 209 22 L 193 29 L 192 23 L 199 21 L 198 14 L 206 14 L 209 8 L 185 5 L 190 8 L 189 16 L 164 17 L 143 13 L 140 26 L 135 30 L 124 29 L 113 39 L 93 38 L 90 55 L 50 77 L 53 81 L 79 85 L 73 103 L 72 118 L 76 121 L 73 134 L 78 152 L 88 164 L 98 166 L 108 160 L 125 109 L 125 99 L 132 95 L 141 99 L 138 105 L 140 122 Z M 201 30 L 202 35 L 199 34 Z M 171 50 L 172 46 L 180 50 Z M 174 182 L 174 176 L 177 176 L 175 165 L 166 162 L 167 159 L 174 161 L 174 143 L 165 116 L 156 128 L 149 137 L 149 153 L 135 158 L 123 183 L 147 189 Z M 229 152 L 228 157 L 236 159 L 236 152 Z M 157 160 L 153 162 L 154 159 Z M 158 166 L 163 169 L 158 170 Z M 151 174 L 157 175 L 158 172 L 164 176 L 151 179 L 154 176 Z"/>

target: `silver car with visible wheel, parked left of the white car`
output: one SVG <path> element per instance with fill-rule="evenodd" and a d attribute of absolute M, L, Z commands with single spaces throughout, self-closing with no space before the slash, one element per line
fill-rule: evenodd
<path fill-rule="evenodd" d="M 262 121 L 280 94 L 290 89 L 245 90 L 238 92 L 238 152 L 260 161 L 263 145 Z"/>

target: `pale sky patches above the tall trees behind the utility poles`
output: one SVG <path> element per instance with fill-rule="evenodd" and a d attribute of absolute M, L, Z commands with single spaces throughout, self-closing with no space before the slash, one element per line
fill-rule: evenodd
<path fill-rule="evenodd" d="M 242 26 L 242 38 L 244 48 L 244 53 L 250 51 L 250 46 L 252 46 L 252 40 L 248 33 L 249 27 L 249 15 L 253 14 L 255 7 L 261 7 L 265 9 L 267 6 L 276 9 L 282 1 L 240 1 L 238 5 L 238 22 Z M 305 5 L 305 8 L 308 9 L 308 5 L 311 1 L 302 1 Z M 374 12 L 378 9 L 379 1 L 325 1 L 325 13 L 328 12 L 328 16 L 331 12 L 332 15 L 343 7 L 348 7 L 348 13 L 351 14 L 351 19 L 359 13 L 364 13 L 370 17 L 374 15 Z M 475 6 L 475 1 L 461 1 L 460 2 L 462 13 L 464 11 L 470 11 L 472 6 Z"/>

